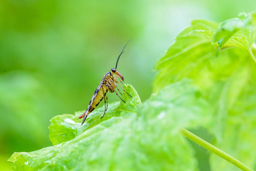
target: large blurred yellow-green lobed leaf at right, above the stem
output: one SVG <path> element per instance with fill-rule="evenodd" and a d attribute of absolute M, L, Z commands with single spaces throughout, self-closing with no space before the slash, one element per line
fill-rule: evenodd
<path fill-rule="evenodd" d="M 205 25 L 208 25 L 206 27 Z M 213 27 L 215 26 L 215 27 Z M 156 64 L 159 71 L 153 89 L 158 92 L 170 83 L 183 78 L 194 80 L 213 104 L 214 117 L 210 130 L 221 139 L 229 110 L 250 77 L 250 60 L 245 51 L 230 49 L 215 58 L 212 40 L 202 30 L 217 30 L 218 24 L 209 21 L 192 21 L 176 38 L 166 55 Z M 194 30 L 201 30 L 200 32 Z M 184 47 L 185 44 L 185 47 Z M 239 80 L 238 80 L 239 79 Z"/>

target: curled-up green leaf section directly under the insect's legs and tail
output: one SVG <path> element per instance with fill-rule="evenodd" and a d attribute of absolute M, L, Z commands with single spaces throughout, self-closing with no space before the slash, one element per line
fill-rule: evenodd
<path fill-rule="evenodd" d="M 105 108 L 104 105 L 101 108 L 96 108 L 94 112 L 90 113 L 83 125 L 81 125 L 82 121 L 78 120 L 78 117 L 82 115 L 84 111 L 76 112 L 75 115 L 58 115 L 53 117 L 49 127 L 49 137 L 52 145 L 72 140 L 84 131 L 95 127 L 95 125 L 100 124 L 105 120 L 109 120 L 112 117 L 125 117 L 129 115 L 129 113 L 135 112 L 137 107 L 141 104 L 140 97 L 131 85 L 124 85 L 124 88 L 133 98 L 131 99 L 127 93 L 123 93 L 122 98 L 126 103 L 121 101 L 108 104 L 108 110 L 102 119 L 101 117 L 103 116 Z M 109 125 L 104 125 L 104 127 L 108 126 Z"/>

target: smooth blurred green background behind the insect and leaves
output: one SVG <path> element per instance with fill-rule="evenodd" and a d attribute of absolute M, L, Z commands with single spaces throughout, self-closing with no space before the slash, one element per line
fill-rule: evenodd
<path fill-rule="evenodd" d="M 129 39 L 117 69 L 145 101 L 156 61 L 191 19 L 221 22 L 255 6 L 250 0 L 1 0 L 0 170 L 11 170 L 14 152 L 51 145 L 51 117 L 86 109 Z"/>

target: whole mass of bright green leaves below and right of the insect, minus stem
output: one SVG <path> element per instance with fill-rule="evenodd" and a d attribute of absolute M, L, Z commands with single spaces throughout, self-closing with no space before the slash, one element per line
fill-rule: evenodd
<path fill-rule="evenodd" d="M 49 127 L 54 146 L 14 153 L 13 169 L 199 170 L 198 149 L 181 136 L 182 128 L 206 131 L 213 145 L 255 166 L 255 16 L 192 21 L 157 62 L 147 101 L 141 104 L 128 85 L 133 97 L 124 93 L 126 103 L 109 104 L 103 119 L 104 107 L 84 125 L 76 120 L 83 112 L 55 116 Z M 210 167 L 238 170 L 212 153 Z"/>

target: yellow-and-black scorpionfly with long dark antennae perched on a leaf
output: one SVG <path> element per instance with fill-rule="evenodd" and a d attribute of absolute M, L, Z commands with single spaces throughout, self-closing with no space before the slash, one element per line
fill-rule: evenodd
<path fill-rule="evenodd" d="M 131 40 L 129 40 L 129 41 L 125 44 L 125 46 L 127 46 L 127 44 L 128 44 L 130 41 L 131 41 Z M 124 48 L 125 48 L 125 46 L 124 46 Z M 123 50 L 121 51 L 121 54 L 123 54 L 124 48 L 123 48 Z M 101 82 L 100 82 L 99 86 L 97 87 L 97 89 L 96 89 L 95 92 L 94 92 L 94 95 L 92 96 L 92 99 L 91 99 L 91 101 L 90 101 L 90 103 L 89 103 L 89 105 L 88 105 L 86 111 L 83 113 L 83 115 L 79 116 L 78 119 L 84 118 L 84 119 L 83 119 L 83 122 L 82 122 L 82 125 L 83 125 L 84 121 L 86 121 L 87 116 L 88 116 L 92 111 L 94 111 L 94 109 L 97 107 L 97 105 L 100 104 L 100 102 L 101 102 L 102 99 L 104 99 L 104 102 L 105 102 L 105 111 L 104 111 L 103 116 L 105 115 L 105 112 L 106 112 L 107 109 L 108 109 L 108 96 L 107 96 L 107 92 L 108 92 L 108 91 L 111 92 L 111 93 L 115 92 L 116 95 L 119 96 L 118 93 L 116 92 L 116 89 L 117 89 L 117 91 L 119 91 L 118 87 L 116 86 L 116 83 L 118 83 L 119 86 L 121 86 L 121 84 L 116 81 L 116 78 L 118 77 L 119 80 L 120 80 L 120 78 L 121 78 L 121 80 L 124 81 L 124 77 L 116 70 L 116 68 L 117 68 L 117 64 L 118 64 L 118 62 L 119 62 L 119 59 L 120 59 L 121 54 L 120 54 L 120 55 L 118 56 L 118 58 L 117 58 L 116 67 L 115 67 L 115 68 L 112 68 L 112 69 L 110 70 L 110 72 L 107 72 L 107 73 L 103 76 L 103 78 L 101 79 Z M 116 75 L 115 75 L 115 74 L 116 74 Z M 120 80 L 120 82 L 123 83 L 121 80 Z M 123 84 L 124 84 L 124 83 L 123 83 Z M 121 86 L 121 88 L 124 90 L 124 92 L 126 92 L 125 89 L 124 89 L 122 86 Z M 119 92 L 120 92 L 120 91 L 119 91 Z M 126 92 L 126 93 L 129 95 L 128 92 Z M 123 95 L 121 92 L 120 92 L 120 94 Z M 132 97 L 131 95 L 129 95 L 129 96 Z M 119 96 L 119 98 L 120 98 L 122 101 L 124 101 L 120 96 Z M 125 103 L 125 101 L 124 101 L 124 103 Z M 103 118 L 103 116 L 102 116 L 101 118 Z M 101 118 L 100 118 L 100 119 L 101 119 Z"/>

